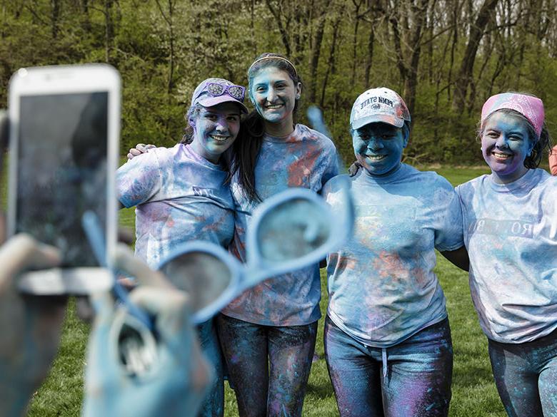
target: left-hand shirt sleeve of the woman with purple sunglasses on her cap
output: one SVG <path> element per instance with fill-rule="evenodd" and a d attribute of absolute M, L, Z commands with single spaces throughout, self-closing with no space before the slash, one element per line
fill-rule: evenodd
<path fill-rule="evenodd" d="M 136 156 L 116 171 L 116 192 L 124 207 L 148 202 L 161 187 L 161 167 L 156 150 Z"/>

